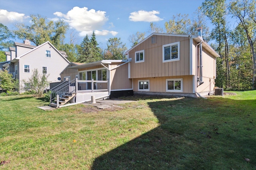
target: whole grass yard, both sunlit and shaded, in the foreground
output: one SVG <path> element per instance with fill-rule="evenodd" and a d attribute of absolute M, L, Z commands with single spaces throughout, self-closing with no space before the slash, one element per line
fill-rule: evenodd
<path fill-rule="evenodd" d="M 256 90 L 235 93 L 53 111 L 0 97 L 0 169 L 255 170 Z"/>

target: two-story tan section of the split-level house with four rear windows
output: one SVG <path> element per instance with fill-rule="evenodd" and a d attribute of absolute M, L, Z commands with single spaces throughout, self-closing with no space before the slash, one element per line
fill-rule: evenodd
<path fill-rule="evenodd" d="M 153 33 L 126 55 L 134 94 L 196 97 L 214 90 L 219 55 L 200 36 Z M 204 83 L 198 86 L 200 76 Z"/>

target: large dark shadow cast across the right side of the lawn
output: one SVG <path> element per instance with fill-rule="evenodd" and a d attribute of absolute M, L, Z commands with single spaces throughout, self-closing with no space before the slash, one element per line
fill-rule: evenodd
<path fill-rule="evenodd" d="M 256 110 L 256 100 L 244 102 Z M 92 169 L 256 168 L 256 122 L 250 121 L 256 116 L 246 106 L 238 110 L 240 104 L 224 98 L 149 102 L 160 126 L 99 156 Z"/>

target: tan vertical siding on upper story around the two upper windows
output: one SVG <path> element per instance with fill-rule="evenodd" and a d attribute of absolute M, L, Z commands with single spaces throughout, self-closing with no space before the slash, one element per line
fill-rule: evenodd
<path fill-rule="evenodd" d="M 151 37 L 129 51 L 132 58 L 130 78 L 184 76 L 190 74 L 190 40 L 188 37 L 156 36 L 156 43 Z M 180 42 L 180 60 L 163 63 L 163 45 Z M 144 50 L 144 62 L 135 63 L 135 52 Z"/>

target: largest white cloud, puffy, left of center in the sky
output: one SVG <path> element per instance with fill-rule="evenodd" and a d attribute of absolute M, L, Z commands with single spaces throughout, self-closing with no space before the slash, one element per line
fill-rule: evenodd
<path fill-rule="evenodd" d="M 106 12 L 104 11 L 88 10 L 86 7 L 79 8 L 76 6 L 68 11 L 67 14 L 55 12 L 54 15 L 60 17 L 66 21 L 70 27 L 79 31 L 80 36 L 85 36 L 86 34 L 90 36 L 92 31 L 95 31 L 96 35 L 107 35 L 108 33 L 113 35 L 112 32 L 114 32 L 108 30 L 99 31 L 108 21 L 108 17 L 106 17 Z"/>

